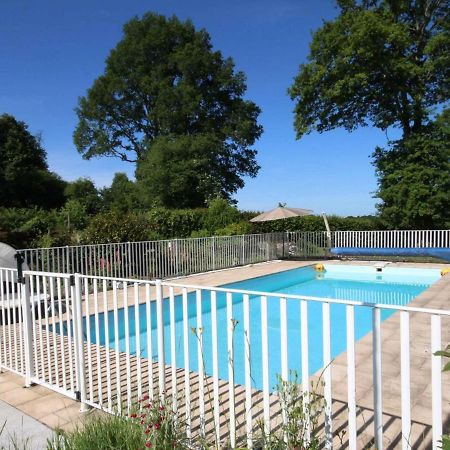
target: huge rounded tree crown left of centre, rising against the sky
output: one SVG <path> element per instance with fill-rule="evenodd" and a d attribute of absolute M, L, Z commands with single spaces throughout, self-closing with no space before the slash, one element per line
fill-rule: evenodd
<path fill-rule="evenodd" d="M 140 163 L 155 146 L 162 152 L 164 143 L 181 147 L 186 139 L 202 142 L 195 136 L 206 136 L 212 142 L 211 165 L 234 170 L 231 176 L 241 180 L 221 185 L 233 193 L 243 184 L 242 176 L 255 176 L 259 169 L 252 146 L 262 132 L 260 109 L 244 98 L 245 92 L 244 74 L 231 58 L 213 50 L 205 30 L 148 13 L 125 24 L 104 73 L 79 99 L 74 141 L 87 159 L 110 156 Z M 182 143 L 174 144 L 177 139 Z M 184 154 L 187 170 L 191 149 L 192 142 Z M 197 152 L 206 154 L 203 148 Z M 158 157 L 150 165 L 156 160 L 162 163 Z M 164 158 L 164 164 L 171 162 Z M 207 169 L 202 170 L 206 176 Z M 145 173 L 151 175 L 148 168 Z"/>

